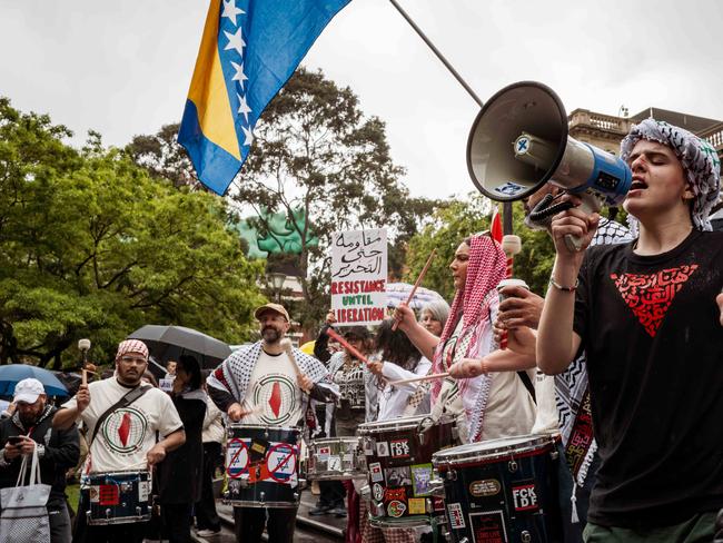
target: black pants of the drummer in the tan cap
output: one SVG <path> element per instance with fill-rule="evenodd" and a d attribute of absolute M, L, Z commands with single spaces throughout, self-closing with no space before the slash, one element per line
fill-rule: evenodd
<path fill-rule="evenodd" d="M 274 543 L 294 543 L 294 525 L 298 507 L 264 509 L 234 507 L 234 530 L 237 543 L 259 543 L 264 526 Z M 268 523 L 266 515 L 268 512 Z"/>

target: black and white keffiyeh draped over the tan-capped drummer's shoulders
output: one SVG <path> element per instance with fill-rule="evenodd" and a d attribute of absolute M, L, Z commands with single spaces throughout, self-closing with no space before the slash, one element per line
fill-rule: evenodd
<path fill-rule="evenodd" d="M 238 402 L 242 402 L 260 354 L 261 342 L 235 351 L 208 376 L 206 383 L 208 386 L 228 392 Z M 294 348 L 294 357 L 304 374 L 315 384 L 334 394 L 335 387 L 324 364 L 298 348 Z"/>

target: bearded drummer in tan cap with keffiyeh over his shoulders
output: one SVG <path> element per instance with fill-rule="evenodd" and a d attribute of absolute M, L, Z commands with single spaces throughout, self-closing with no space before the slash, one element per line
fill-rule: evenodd
<path fill-rule="evenodd" d="M 331 401 L 336 388 L 324 365 L 299 349 L 294 349 L 300 374 L 281 345 L 290 326 L 287 310 L 279 304 L 266 304 L 255 312 L 259 322 L 261 340 L 241 347 L 226 358 L 209 376 L 208 392 L 219 409 L 234 422 L 303 426 L 308 398 Z M 266 377 L 274 378 L 266 378 Z M 271 408 L 268 387 L 283 377 L 295 383 L 291 397 Z M 259 403 L 261 402 L 261 403 Z M 238 542 L 260 542 L 264 527 L 269 541 L 290 543 L 294 540 L 296 507 L 260 509 L 234 507 L 236 539 Z M 267 521 L 268 513 L 268 521 Z"/>

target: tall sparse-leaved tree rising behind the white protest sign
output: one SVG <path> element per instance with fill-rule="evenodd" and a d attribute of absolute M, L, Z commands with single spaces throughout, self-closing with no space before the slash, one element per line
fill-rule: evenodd
<path fill-rule="evenodd" d="M 399 182 L 404 170 L 389 156 L 384 122 L 364 117 L 351 89 L 298 69 L 264 111 L 254 146 L 234 198 L 256 211 L 261 235 L 269 230 L 265 209 L 285 213 L 297 230 L 304 325 L 328 309 L 334 231 L 387 227 L 390 270 L 400 274 L 406 241 L 435 203 L 412 198 Z M 291 220 L 299 209 L 308 219 L 303 224 Z M 310 229 L 318 246 L 307 243 Z"/>

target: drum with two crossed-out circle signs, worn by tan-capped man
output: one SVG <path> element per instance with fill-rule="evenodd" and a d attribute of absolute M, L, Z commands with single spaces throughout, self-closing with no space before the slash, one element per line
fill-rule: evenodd
<path fill-rule="evenodd" d="M 299 428 L 229 425 L 224 501 L 237 507 L 298 507 L 300 438 Z"/>

